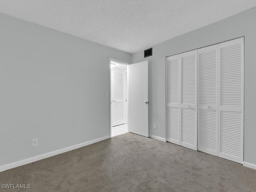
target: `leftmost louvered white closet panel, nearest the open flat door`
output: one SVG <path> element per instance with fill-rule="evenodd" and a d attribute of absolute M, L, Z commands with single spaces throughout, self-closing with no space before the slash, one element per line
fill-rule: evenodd
<path fill-rule="evenodd" d="M 167 138 L 180 145 L 180 54 L 166 57 Z"/>

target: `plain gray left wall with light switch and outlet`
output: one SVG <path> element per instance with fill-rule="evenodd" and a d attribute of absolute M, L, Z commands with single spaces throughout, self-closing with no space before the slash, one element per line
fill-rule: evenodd
<path fill-rule="evenodd" d="M 131 54 L 5 14 L 0 28 L 0 166 L 110 135 L 109 58 Z"/>

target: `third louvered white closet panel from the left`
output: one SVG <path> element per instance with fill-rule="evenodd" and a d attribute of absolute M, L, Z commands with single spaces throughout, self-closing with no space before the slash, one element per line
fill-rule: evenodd
<path fill-rule="evenodd" d="M 218 156 L 218 44 L 198 49 L 198 150 Z"/>

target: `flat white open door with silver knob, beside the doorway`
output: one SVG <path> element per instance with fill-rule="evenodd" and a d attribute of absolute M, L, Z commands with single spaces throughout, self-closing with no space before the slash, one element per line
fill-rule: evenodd
<path fill-rule="evenodd" d="M 148 61 L 128 66 L 128 130 L 145 137 L 148 133 Z"/>

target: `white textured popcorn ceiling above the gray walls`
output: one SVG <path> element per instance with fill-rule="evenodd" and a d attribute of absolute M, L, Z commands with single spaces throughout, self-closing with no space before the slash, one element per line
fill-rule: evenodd
<path fill-rule="evenodd" d="M 128 53 L 256 6 L 256 0 L 0 0 L 0 12 Z"/>

